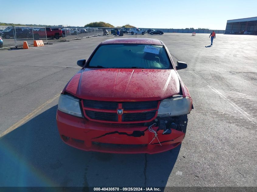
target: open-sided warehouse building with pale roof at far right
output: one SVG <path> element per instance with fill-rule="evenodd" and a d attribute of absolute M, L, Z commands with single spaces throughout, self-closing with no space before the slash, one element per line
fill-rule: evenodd
<path fill-rule="evenodd" d="M 257 17 L 227 20 L 225 34 L 257 35 Z"/>

